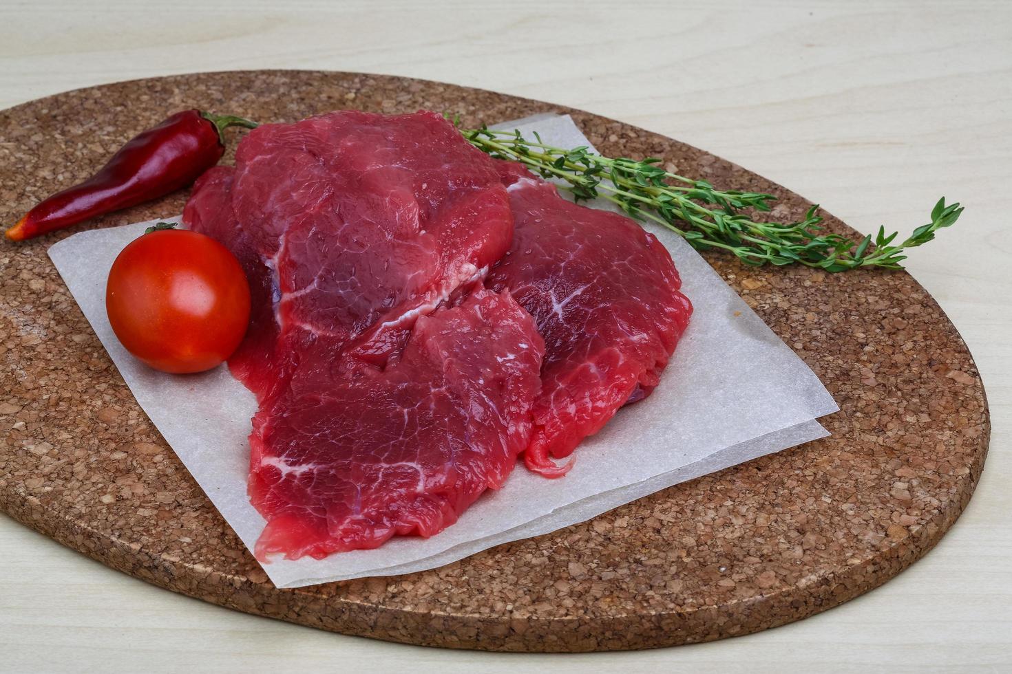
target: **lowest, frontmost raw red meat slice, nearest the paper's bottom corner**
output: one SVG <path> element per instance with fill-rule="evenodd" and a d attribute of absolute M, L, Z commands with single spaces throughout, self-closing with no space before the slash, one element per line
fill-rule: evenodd
<path fill-rule="evenodd" d="M 497 489 L 530 438 L 543 345 L 508 294 L 419 317 L 395 367 L 297 378 L 251 437 L 257 557 L 432 536 Z"/>

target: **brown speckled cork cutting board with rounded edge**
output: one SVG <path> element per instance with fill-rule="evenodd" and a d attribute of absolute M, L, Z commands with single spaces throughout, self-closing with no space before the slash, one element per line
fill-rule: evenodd
<path fill-rule="evenodd" d="M 467 125 L 567 112 L 606 155 L 662 157 L 718 187 L 772 192 L 778 220 L 809 206 L 720 158 L 578 110 L 405 78 L 258 71 L 125 82 L 0 112 L 0 222 L 13 223 L 134 133 L 189 107 L 271 121 L 335 108 L 427 108 L 458 113 Z M 178 213 L 186 196 L 85 226 Z M 743 635 L 895 576 L 951 526 L 984 467 L 990 425 L 974 360 L 908 274 L 752 269 L 711 254 L 839 402 L 824 419 L 832 437 L 433 571 L 278 590 L 141 411 L 50 263 L 46 249 L 81 228 L 0 244 L 0 509 L 110 567 L 224 606 L 350 635 L 499 651 Z"/>

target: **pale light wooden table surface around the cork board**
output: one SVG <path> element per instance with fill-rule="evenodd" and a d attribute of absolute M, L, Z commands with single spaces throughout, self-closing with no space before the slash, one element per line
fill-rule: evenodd
<path fill-rule="evenodd" d="M 984 374 L 977 495 L 882 588 L 777 630 L 579 656 L 451 652 L 257 618 L 147 585 L 0 516 L 0 670 L 671 672 L 1012 670 L 1012 3 L 474 0 L 0 3 L 0 107 L 116 80 L 243 68 L 495 89 L 704 148 L 863 231 L 944 194 L 957 227 L 909 268 Z"/>

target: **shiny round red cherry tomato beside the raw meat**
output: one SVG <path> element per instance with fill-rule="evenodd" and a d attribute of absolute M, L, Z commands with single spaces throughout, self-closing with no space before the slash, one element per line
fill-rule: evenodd
<path fill-rule="evenodd" d="M 112 330 L 156 370 L 202 372 L 235 352 L 250 317 L 239 261 L 209 236 L 149 231 L 119 253 L 105 286 Z"/>

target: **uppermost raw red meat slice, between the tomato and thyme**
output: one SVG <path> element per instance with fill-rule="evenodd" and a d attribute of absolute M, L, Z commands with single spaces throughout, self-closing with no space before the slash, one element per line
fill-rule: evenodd
<path fill-rule="evenodd" d="M 233 204 L 277 275 L 282 331 L 301 339 L 410 326 L 512 236 L 492 161 L 431 112 L 260 126 L 236 154 Z"/>

